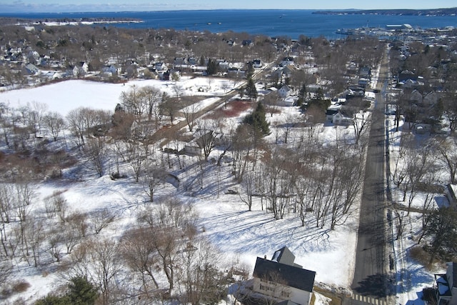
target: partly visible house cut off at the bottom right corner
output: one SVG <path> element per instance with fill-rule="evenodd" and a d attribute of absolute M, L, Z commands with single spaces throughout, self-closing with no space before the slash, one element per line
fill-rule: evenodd
<path fill-rule="evenodd" d="M 446 265 L 446 274 L 435 274 L 437 305 L 457 305 L 457 263 Z"/>

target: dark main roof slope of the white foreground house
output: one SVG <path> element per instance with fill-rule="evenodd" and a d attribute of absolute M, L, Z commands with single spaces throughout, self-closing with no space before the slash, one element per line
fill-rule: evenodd
<path fill-rule="evenodd" d="M 268 261 L 268 259 L 258 257 L 253 276 L 258 279 L 268 279 L 268 281 L 277 281 L 279 277 L 287 286 L 312 292 L 316 271 L 276 263 L 276 261 Z"/>

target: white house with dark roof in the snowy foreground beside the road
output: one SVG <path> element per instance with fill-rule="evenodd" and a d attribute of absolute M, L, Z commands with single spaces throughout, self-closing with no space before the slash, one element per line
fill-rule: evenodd
<path fill-rule="evenodd" d="M 253 291 L 280 304 L 308 305 L 313 294 L 315 271 L 295 264 L 295 256 L 284 246 L 271 260 L 260 257 L 253 271 Z M 292 302 L 292 303 L 290 303 Z"/>

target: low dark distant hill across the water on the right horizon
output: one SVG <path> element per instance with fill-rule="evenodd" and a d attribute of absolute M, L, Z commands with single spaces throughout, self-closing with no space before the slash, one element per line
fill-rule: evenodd
<path fill-rule="evenodd" d="M 396 15 L 396 16 L 457 16 L 457 7 L 449 9 L 364 9 L 343 11 L 314 11 L 324 15 Z"/>

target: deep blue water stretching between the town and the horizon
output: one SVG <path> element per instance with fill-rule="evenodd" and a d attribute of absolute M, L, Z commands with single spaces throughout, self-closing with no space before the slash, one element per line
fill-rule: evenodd
<path fill-rule="evenodd" d="M 336 29 L 356 29 L 363 26 L 385 27 L 387 24 L 411 24 L 422 29 L 457 27 L 457 16 L 385 16 L 385 15 L 321 15 L 311 10 L 213 10 L 213 11 L 150 11 L 107 13 L 39 13 L 1 14 L 31 19 L 123 18 L 141 19 L 142 23 L 116 24 L 126 28 L 189 29 L 191 31 L 226 31 L 288 36 L 339 38 Z"/>

